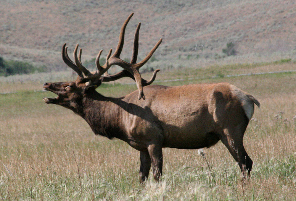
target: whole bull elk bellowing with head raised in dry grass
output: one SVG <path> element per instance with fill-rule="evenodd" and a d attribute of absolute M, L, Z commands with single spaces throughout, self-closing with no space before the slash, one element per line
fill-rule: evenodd
<path fill-rule="evenodd" d="M 243 176 L 249 175 L 252 160 L 244 149 L 243 136 L 254 113 L 254 103 L 258 107 L 260 103 L 249 93 L 229 83 L 151 86 L 159 69 L 147 81 L 141 78 L 139 68 L 152 56 L 161 38 L 149 54 L 136 63 L 139 23 L 130 63 L 119 58 L 125 28 L 132 15 L 123 23 L 117 48 L 112 56 L 112 49 L 109 51 L 103 66 L 99 64 L 102 50 L 99 51 L 95 61 L 97 70 L 94 72 L 83 67 L 81 49 L 77 56 L 78 44 L 74 50 L 75 63 L 67 54 L 66 43 L 63 45 L 62 59 L 77 72 L 78 78 L 75 82 L 44 83 L 45 90 L 58 95 L 56 98 L 44 98 L 45 103 L 69 108 L 85 119 L 95 134 L 109 139 L 118 138 L 139 150 L 142 182 L 147 179 L 151 164 L 154 179 L 158 180 L 162 175 L 162 147 L 208 148 L 219 140 L 238 162 Z M 123 70 L 108 74 L 107 70 L 115 64 Z M 104 97 L 96 92 L 102 82 L 122 77 L 135 80 L 138 92 L 134 91 L 121 98 Z"/>

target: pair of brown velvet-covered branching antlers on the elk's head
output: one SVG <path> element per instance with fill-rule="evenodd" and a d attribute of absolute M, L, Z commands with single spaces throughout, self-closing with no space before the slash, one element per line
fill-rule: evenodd
<path fill-rule="evenodd" d="M 66 43 L 64 44 L 63 49 L 62 49 L 62 58 L 63 58 L 64 62 L 69 67 L 71 67 L 75 72 L 77 72 L 80 77 L 85 78 L 85 79 L 97 80 L 97 79 L 103 77 L 104 78 L 103 82 L 110 82 L 110 81 L 118 80 L 122 77 L 130 77 L 136 81 L 136 85 L 139 90 L 138 98 L 145 99 L 145 96 L 143 93 L 143 86 L 150 85 L 155 80 L 156 73 L 159 71 L 159 69 L 154 71 L 154 73 L 149 81 L 141 78 L 141 74 L 139 72 L 139 69 L 150 59 L 152 54 L 155 52 L 157 47 L 160 45 L 162 38 L 160 38 L 160 40 L 156 43 L 156 45 L 152 48 L 152 50 L 149 52 L 149 54 L 142 61 L 140 61 L 139 63 L 136 63 L 137 56 L 138 56 L 138 48 L 139 48 L 139 29 L 141 26 L 141 23 L 139 22 L 139 24 L 136 28 L 136 33 L 135 33 L 135 37 L 134 37 L 134 41 L 133 41 L 133 54 L 132 54 L 132 58 L 131 58 L 131 63 L 128 63 L 128 62 L 120 59 L 119 56 L 120 56 L 120 53 L 123 48 L 124 33 L 125 33 L 126 25 L 128 24 L 128 22 L 132 16 L 133 16 L 133 13 L 130 14 L 130 16 L 128 16 L 126 21 L 123 23 L 123 26 L 121 27 L 121 30 L 120 30 L 119 41 L 118 41 L 118 45 L 116 47 L 116 50 L 115 50 L 114 54 L 112 54 L 112 56 L 110 56 L 111 52 L 112 52 L 112 49 L 110 49 L 109 54 L 106 57 L 106 63 L 104 64 L 104 66 L 100 66 L 100 64 L 99 64 L 99 58 L 102 53 L 102 50 L 99 52 L 98 56 L 96 57 L 96 67 L 98 69 L 97 71 L 90 72 L 82 65 L 82 63 L 81 63 L 81 49 L 79 50 L 79 55 L 77 56 L 78 44 L 76 45 L 75 50 L 74 50 L 74 60 L 75 60 L 76 65 L 74 64 L 73 61 L 71 61 L 71 59 L 67 55 L 67 47 L 65 47 Z M 122 67 L 124 70 L 122 70 L 119 73 L 109 75 L 107 73 L 107 70 L 112 65 L 118 65 L 118 66 Z"/>

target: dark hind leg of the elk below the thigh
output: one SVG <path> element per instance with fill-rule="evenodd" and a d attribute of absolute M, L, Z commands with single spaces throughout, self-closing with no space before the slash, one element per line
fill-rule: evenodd
<path fill-rule="evenodd" d="M 244 177 L 250 176 L 252 171 L 253 161 L 247 154 L 243 145 L 244 130 L 224 129 L 223 135 L 220 137 L 223 144 L 227 147 L 235 161 L 239 163 L 239 167 Z M 247 172 L 247 174 L 246 174 Z"/>

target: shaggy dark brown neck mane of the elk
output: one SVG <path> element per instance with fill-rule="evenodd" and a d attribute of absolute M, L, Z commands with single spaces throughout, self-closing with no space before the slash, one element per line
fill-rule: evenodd
<path fill-rule="evenodd" d="M 124 140 L 121 108 L 117 104 L 120 99 L 104 97 L 93 89 L 83 97 L 77 114 L 87 121 L 96 135 Z"/>

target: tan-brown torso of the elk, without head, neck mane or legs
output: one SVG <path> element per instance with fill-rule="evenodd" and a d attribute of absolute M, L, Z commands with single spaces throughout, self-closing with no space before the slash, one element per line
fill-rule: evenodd
<path fill-rule="evenodd" d="M 156 141 L 161 147 L 210 147 L 220 140 L 224 129 L 232 129 L 241 124 L 246 126 L 249 122 L 250 117 L 246 116 L 233 89 L 238 88 L 228 83 L 146 86 L 145 100 L 137 100 L 136 91 L 119 99 L 106 98 L 109 99 L 104 100 L 107 111 L 104 114 L 102 111 L 97 112 L 98 116 L 117 114 L 116 123 L 122 131 L 118 138 L 137 150 L 147 149 Z M 251 110 L 253 105 L 250 99 Z M 109 108 L 112 110 L 109 111 Z M 100 125 L 93 125 L 91 118 L 87 121 L 96 130 Z M 238 137 L 242 140 L 241 134 Z"/>

